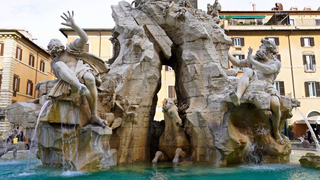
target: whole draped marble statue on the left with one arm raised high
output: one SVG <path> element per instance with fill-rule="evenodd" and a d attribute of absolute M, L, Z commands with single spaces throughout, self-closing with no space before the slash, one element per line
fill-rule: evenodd
<path fill-rule="evenodd" d="M 103 80 L 103 75 L 109 71 L 108 64 L 98 56 L 85 52 L 84 48 L 88 41 L 88 36 L 78 25 L 76 25 L 73 16 L 68 11 L 68 15 L 61 16 L 66 22 L 62 25 L 71 27 L 76 31 L 80 38 L 74 40 L 67 48 L 64 48 L 59 39 L 51 39 L 48 49 L 55 57 L 51 63 L 51 69 L 57 82 L 49 96 L 58 97 L 60 95 L 70 95 L 73 89 L 80 95 L 84 95 L 88 100 L 91 111 L 91 123 L 106 127 L 107 122 L 98 117 L 97 114 L 97 87 Z M 41 84 L 52 81 L 41 81 L 36 84 L 36 89 Z"/>

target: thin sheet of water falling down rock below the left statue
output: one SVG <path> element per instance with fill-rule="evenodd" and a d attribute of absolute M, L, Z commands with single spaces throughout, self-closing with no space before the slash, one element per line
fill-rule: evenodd
<path fill-rule="evenodd" d="M 66 102 L 58 104 L 61 117 L 63 169 L 74 171 L 78 169 L 76 121 L 79 120 L 79 108 L 72 107 Z"/>

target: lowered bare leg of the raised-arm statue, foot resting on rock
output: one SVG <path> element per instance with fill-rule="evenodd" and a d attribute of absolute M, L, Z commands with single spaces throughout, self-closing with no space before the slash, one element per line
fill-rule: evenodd
<path fill-rule="evenodd" d="M 86 95 L 86 98 L 89 102 L 89 107 L 91 111 L 91 123 L 99 124 L 102 127 L 106 127 L 107 121 L 98 117 L 97 113 L 97 98 L 98 91 L 96 87 L 96 81 L 92 73 L 86 72 L 83 76 L 84 84 L 89 90 L 89 94 Z"/>

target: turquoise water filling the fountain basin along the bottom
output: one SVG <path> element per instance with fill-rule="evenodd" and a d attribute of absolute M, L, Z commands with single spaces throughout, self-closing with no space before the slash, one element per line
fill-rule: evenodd
<path fill-rule="evenodd" d="M 303 152 L 305 154 L 305 152 Z M 0 180 L 36 180 L 36 179 L 219 179 L 219 180 L 274 180 L 320 179 L 320 170 L 299 166 L 297 160 L 301 154 L 293 151 L 290 164 L 236 165 L 227 168 L 215 168 L 207 164 L 172 166 L 171 163 L 134 163 L 119 166 L 107 171 L 95 173 L 63 171 L 41 165 L 34 159 L 29 164 L 27 154 L 18 153 L 17 159 L 12 154 L 0 158 Z"/>

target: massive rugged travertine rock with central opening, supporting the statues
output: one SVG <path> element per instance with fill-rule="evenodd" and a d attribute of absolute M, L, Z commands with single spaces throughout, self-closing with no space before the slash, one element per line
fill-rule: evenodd
<path fill-rule="evenodd" d="M 289 161 L 289 139 L 282 136 L 285 143 L 280 145 L 272 135 L 270 94 L 264 91 L 264 82 L 257 79 L 250 83 L 239 107 L 228 98 L 238 82 L 227 76 L 231 39 L 212 15 L 194 9 L 188 0 L 177 4 L 168 0 L 141 1 L 137 8 L 121 1 L 111 8 L 116 23 L 112 35 L 116 53 L 98 88 L 98 114 L 107 119 L 108 127 L 86 125 L 90 111 L 84 98 L 70 96 L 68 102 L 62 102 L 79 110 L 79 120 L 75 119 L 72 127 L 77 133 L 78 169 L 100 170 L 154 158 L 158 151 L 154 143 L 159 141 L 151 140 L 158 138 L 162 129 L 159 124 L 153 125 L 162 65 L 175 72 L 178 113 L 191 161 L 215 166 Z M 52 86 L 40 86 L 39 100 L 9 106 L 9 121 L 34 128 Z M 282 127 L 292 117 L 292 108 L 300 103 L 285 96 L 280 102 Z M 38 157 L 49 166 L 61 166 L 62 162 L 59 108 L 52 100 L 38 128 Z M 28 139 L 31 131 L 25 133 Z M 101 143 L 94 144 L 100 137 Z M 91 156 L 94 152 L 99 152 L 94 156 L 97 159 Z M 68 160 L 76 162 L 74 157 Z"/>

